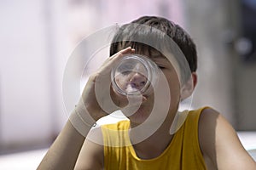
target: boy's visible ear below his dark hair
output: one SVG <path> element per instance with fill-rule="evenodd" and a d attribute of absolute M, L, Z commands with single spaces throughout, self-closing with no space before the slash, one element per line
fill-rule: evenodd
<path fill-rule="evenodd" d="M 192 72 L 189 80 L 185 82 L 181 88 L 181 100 L 189 98 L 189 96 L 194 92 L 196 83 L 197 75 L 195 72 Z"/>

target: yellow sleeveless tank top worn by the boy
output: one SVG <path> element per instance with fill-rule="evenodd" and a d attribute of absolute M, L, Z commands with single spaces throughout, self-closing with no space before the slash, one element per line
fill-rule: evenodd
<path fill-rule="evenodd" d="M 102 126 L 104 140 L 104 169 L 106 170 L 201 170 L 207 169 L 198 140 L 198 121 L 201 111 L 189 111 L 183 126 L 174 134 L 171 143 L 158 157 L 143 160 L 137 157 L 128 133 L 129 121 Z M 109 131 L 109 129 L 111 129 Z M 114 133 L 113 133 L 114 132 Z M 128 138 L 127 138 L 128 137 Z M 123 147 L 115 147 L 123 144 Z"/>

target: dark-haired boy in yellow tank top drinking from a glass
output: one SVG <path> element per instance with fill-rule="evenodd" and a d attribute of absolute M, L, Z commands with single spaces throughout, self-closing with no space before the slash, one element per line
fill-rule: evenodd
<path fill-rule="evenodd" d="M 113 66 L 127 54 L 147 56 L 159 66 L 153 93 L 125 96 L 110 85 Z M 110 55 L 90 76 L 38 169 L 256 169 L 218 111 L 201 108 L 174 121 L 180 101 L 197 82 L 195 44 L 181 27 L 164 18 L 141 17 L 120 27 Z M 116 110 L 129 121 L 104 125 L 89 135 L 98 119 Z"/>

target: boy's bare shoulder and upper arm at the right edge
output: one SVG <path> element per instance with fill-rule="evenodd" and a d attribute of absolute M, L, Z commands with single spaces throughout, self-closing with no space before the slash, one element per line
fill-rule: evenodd
<path fill-rule="evenodd" d="M 256 169 L 255 161 L 243 148 L 235 129 L 218 111 L 207 108 L 201 112 L 198 132 L 207 166 L 212 169 Z"/>

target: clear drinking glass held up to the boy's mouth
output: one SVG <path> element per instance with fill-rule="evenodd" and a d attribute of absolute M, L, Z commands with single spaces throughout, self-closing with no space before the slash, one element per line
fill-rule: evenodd
<path fill-rule="evenodd" d="M 138 54 L 124 56 L 111 72 L 114 90 L 123 95 L 152 93 L 158 77 L 157 65 L 148 57 Z"/>

